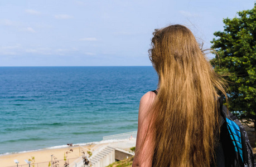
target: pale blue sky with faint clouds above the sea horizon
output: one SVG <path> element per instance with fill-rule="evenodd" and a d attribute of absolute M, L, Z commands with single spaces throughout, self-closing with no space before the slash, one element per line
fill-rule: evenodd
<path fill-rule="evenodd" d="M 151 66 L 152 32 L 188 27 L 210 48 L 224 18 L 252 0 L 0 2 L 0 66 Z M 214 55 L 207 55 L 212 58 Z"/>

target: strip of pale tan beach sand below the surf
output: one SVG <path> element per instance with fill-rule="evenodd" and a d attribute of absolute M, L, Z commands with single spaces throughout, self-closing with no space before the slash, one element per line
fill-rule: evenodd
<path fill-rule="evenodd" d="M 65 163 L 64 153 L 66 156 L 66 161 L 72 163 L 74 160 L 78 159 L 81 155 L 83 155 L 83 151 L 86 153 L 86 149 L 91 150 L 95 144 L 93 145 L 84 145 L 84 146 L 69 146 L 66 148 L 59 149 L 42 149 L 37 151 L 29 151 L 25 153 L 17 153 L 17 154 L 8 154 L 0 156 L 0 166 L 17 166 L 14 162 L 15 159 L 19 161 L 18 166 L 28 166 L 25 162 L 25 159 L 32 159 L 35 157 L 35 167 L 48 166 L 49 162 L 51 162 L 51 155 L 53 155 L 53 161 L 58 160 L 59 165 L 63 166 Z M 73 150 L 73 151 L 70 151 Z M 66 154 L 67 153 L 67 154 Z M 54 159 L 56 158 L 56 159 Z M 32 164 L 32 163 L 31 163 Z M 31 165 L 32 166 L 32 165 Z"/>

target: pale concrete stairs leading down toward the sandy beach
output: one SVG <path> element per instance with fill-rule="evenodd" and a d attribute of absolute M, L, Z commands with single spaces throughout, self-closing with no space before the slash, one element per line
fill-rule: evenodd
<path fill-rule="evenodd" d="M 101 148 L 94 151 L 90 157 L 90 163 L 93 167 L 105 167 L 115 162 L 115 149 L 103 145 Z"/>

